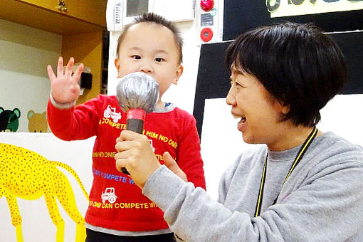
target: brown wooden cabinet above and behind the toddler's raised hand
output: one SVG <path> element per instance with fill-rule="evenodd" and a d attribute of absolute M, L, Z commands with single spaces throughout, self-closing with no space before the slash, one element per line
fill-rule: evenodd
<path fill-rule="evenodd" d="M 70 57 L 91 68 L 92 89 L 78 104 L 102 90 L 102 36 L 106 31 L 107 0 L 65 0 L 68 11 L 57 9 L 58 0 L 0 0 L 0 19 L 42 29 L 62 37 L 64 61 Z"/>

